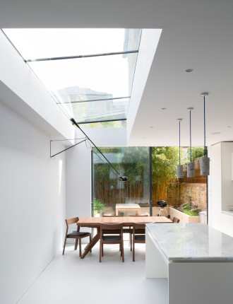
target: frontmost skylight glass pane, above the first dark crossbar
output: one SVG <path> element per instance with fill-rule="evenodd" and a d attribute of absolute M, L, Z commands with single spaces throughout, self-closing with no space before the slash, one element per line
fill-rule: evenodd
<path fill-rule="evenodd" d="M 138 49 L 141 30 L 124 28 L 9 28 L 4 33 L 24 59 Z"/>

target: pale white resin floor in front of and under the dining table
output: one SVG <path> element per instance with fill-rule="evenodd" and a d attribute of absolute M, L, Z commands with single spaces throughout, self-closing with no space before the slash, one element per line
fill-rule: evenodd
<path fill-rule="evenodd" d="M 105 245 L 100 263 L 98 244 L 84 259 L 67 245 L 18 303 L 167 304 L 167 279 L 145 279 L 145 244 L 137 244 L 136 262 L 127 242 L 124 250 L 122 263 L 119 246 Z"/>

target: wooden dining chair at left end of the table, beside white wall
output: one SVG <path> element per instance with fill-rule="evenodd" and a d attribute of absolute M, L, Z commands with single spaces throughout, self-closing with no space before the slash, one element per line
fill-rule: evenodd
<path fill-rule="evenodd" d="M 66 239 L 67 238 L 74 238 L 74 239 L 76 239 L 74 250 L 77 250 L 78 241 L 79 241 L 79 256 L 81 256 L 81 251 L 82 251 L 81 239 L 82 238 L 86 238 L 86 237 L 89 236 L 90 237 L 90 241 L 91 241 L 91 234 L 88 233 L 88 232 L 80 232 L 80 226 L 77 227 L 77 231 L 74 231 L 72 233 L 68 233 L 68 226 L 71 225 L 71 224 L 74 224 L 74 223 L 78 223 L 78 220 L 79 220 L 79 218 L 69 218 L 69 219 L 66 219 L 66 237 L 65 237 L 65 241 L 64 241 L 64 248 L 63 248 L 62 255 L 64 255 L 64 253 L 65 253 Z"/>

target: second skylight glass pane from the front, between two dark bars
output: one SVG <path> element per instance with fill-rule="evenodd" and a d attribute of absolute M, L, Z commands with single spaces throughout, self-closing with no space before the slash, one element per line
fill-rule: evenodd
<path fill-rule="evenodd" d="M 59 103 L 128 97 L 129 61 L 137 54 L 28 62 Z"/>

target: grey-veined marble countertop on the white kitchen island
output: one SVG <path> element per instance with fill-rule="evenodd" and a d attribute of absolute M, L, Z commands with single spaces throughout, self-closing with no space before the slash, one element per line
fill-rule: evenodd
<path fill-rule="evenodd" d="M 233 238 L 201 223 L 146 224 L 169 262 L 233 262 Z"/>

